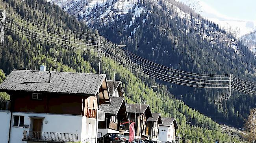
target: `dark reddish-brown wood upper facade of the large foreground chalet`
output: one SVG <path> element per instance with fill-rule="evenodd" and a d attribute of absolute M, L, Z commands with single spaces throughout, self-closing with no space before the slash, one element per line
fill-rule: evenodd
<path fill-rule="evenodd" d="M 32 99 L 33 93 L 41 94 L 41 99 Z M 97 99 L 76 94 L 48 92 L 8 92 L 11 95 L 13 112 L 34 112 L 50 114 L 86 115 L 88 109 L 96 108 Z M 91 98 L 91 97 L 90 97 Z M 96 100 L 96 101 L 95 101 Z"/>

